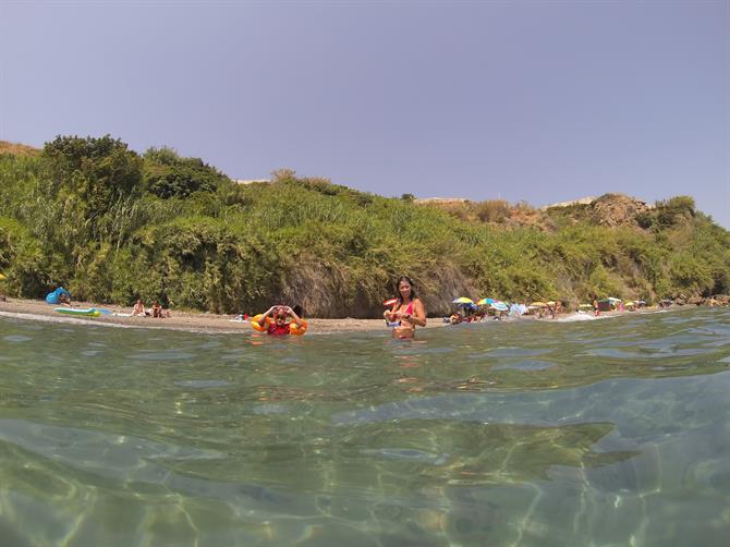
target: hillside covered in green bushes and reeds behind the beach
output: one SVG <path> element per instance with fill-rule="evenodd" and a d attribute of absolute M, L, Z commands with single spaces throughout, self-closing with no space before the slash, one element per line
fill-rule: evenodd
<path fill-rule="evenodd" d="M 273 173 L 240 185 L 170 148 L 110 136 L 0 149 L 0 271 L 9 295 L 238 313 L 272 302 L 379 317 L 409 275 L 429 312 L 454 296 L 593 294 L 656 301 L 730 292 L 730 233 L 688 196 L 603 226 L 591 206 L 423 205 Z"/>

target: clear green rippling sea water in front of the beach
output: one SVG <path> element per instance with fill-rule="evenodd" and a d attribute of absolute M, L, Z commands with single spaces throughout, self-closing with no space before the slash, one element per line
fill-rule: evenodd
<path fill-rule="evenodd" d="M 727 545 L 730 311 L 268 339 L 0 317 L 0 545 Z"/>

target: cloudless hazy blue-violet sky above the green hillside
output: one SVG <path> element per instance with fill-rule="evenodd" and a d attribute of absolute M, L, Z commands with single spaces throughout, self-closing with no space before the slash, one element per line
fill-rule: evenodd
<path fill-rule="evenodd" d="M 386 196 L 679 194 L 730 228 L 730 0 L 0 0 L 0 138 Z"/>

